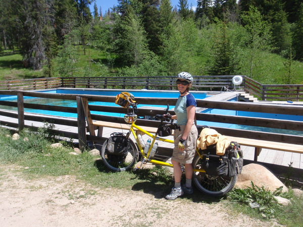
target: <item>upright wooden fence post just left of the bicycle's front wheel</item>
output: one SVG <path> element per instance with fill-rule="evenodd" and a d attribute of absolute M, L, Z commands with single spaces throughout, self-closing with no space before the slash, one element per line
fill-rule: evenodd
<path fill-rule="evenodd" d="M 77 123 L 78 123 L 78 140 L 79 140 L 79 149 L 84 150 L 86 146 L 86 122 L 85 122 L 85 113 L 82 107 L 81 97 L 77 96 Z"/>

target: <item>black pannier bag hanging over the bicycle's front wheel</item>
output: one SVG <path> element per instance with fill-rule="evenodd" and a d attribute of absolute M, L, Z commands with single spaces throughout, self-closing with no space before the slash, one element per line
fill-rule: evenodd
<path fill-rule="evenodd" d="M 122 161 L 127 156 L 127 139 L 124 133 L 112 133 L 107 141 L 108 158 Z"/>

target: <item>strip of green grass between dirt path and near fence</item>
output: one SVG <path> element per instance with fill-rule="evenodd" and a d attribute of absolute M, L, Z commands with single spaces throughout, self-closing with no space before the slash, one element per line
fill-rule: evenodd
<path fill-rule="evenodd" d="M 92 156 L 89 152 L 70 154 L 73 149 L 68 142 L 61 141 L 63 147 L 52 148 L 51 144 L 58 141 L 48 133 L 48 128 L 52 128 L 52 125 L 45 125 L 39 129 L 38 134 L 21 132 L 18 140 L 7 136 L 14 132 L 0 128 L 0 164 L 14 164 L 16 169 L 22 166 L 18 171 L 22 171 L 24 178 L 28 179 L 69 175 L 101 189 L 143 191 L 155 194 L 158 198 L 164 198 L 173 185 L 172 174 L 159 166 L 136 172 L 113 173 L 108 171 L 99 157 Z M 266 222 L 277 220 L 286 226 L 303 226 L 303 198 L 294 196 L 292 190 L 280 196 L 290 199 L 291 205 L 277 205 L 271 192 L 255 186 L 245 190 L 234 189 L 224 198 L 194 193 L 183 197 L 182 202 L 220 202 L 227 204 L 226 210 L 232 214 L 243 213 Z M 258 202 L 262 208 L 252 209 L 249 202 Z"/>

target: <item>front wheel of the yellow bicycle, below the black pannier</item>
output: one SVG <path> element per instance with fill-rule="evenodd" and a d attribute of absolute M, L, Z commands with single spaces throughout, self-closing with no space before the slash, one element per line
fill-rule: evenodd
<path fill-rule="evenodd" d="M 111 169 L 114 172 L 127 171 L 135 164 L 135 162 L 138 159 L 138 150 L 137 150 L 137 146 L 134 144 L 132 140 L 128 139 L 127 155 L 122 160 L 113 160 L 113 158 L 111 158 L 111 156 L 108 155 L 107 142 L 108 141 L 104 142 L 100 155 L 102 157 L 103 163 L 109 169 Z"/>

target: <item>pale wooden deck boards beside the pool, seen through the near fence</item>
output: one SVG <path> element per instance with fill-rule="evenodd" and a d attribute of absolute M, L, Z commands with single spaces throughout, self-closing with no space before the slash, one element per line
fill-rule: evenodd
<path fill-rule="evenodd" d="M 34 114 L 33 114 L 34 115 Z M 62 119 L 62 117 L 60 117 Z M 71 119 L 71 118 L 69 118 Z M 5 122 L 12 122 L 12 123 L 18 123 L 17 119 L 9 118 L 1 116 L 0 123 L 2 121 Z M 77 119 L 75 119 L 77 121 Z M 31 121 L 25 121 L 26 126 L 35 126 L 35 127 L 42 127 L 43 123 L 39 122 L 31 122 Z M 78 129 L 77 127 L 68 127 L 64 125 L 55 125 L 56 130 L 65 131 L 65 132 L 74 132 L 77 133 Z M 127 130 L 117 130 L 113 128 L 104 128 L 103 130 L 103 137 L 110 137 L 111 133 L 113 132 L 127 132 Z M 171 137 L 168 137 L 172 139 Z M 147 137 L 146 135 L 143 136 L 144 141 L 146 141 Z M 77 140 L 74 140 L 77 142 Z M 168 144 L 164 142 L 158 142 L 159 146 L 166 146 L 170 148 L 173 147 L 173 144 Z M 255 148 L 249 147 L 249 146 L 241 146 L 243 150 L 243 156 L 245 160 L 253 161 L 254 160 L 254 154 L 255 154 Z M 275 165 L 281 165 L 281 166 L 289 166 L 290 163 L 292 163 L 292 167 L 303 169 L 303 154 L 300 153 L 292 153 L 292 152 L 285 152 L 285 151 L 279 151 L 279 150 L 271 150 L 271 149 L 262 149 L 259 157 L 258 162 L 261 163 L 269 163 L 269 164 L 275 164 Z M 303 173 L 303 172 L 302 172 Z"/>

